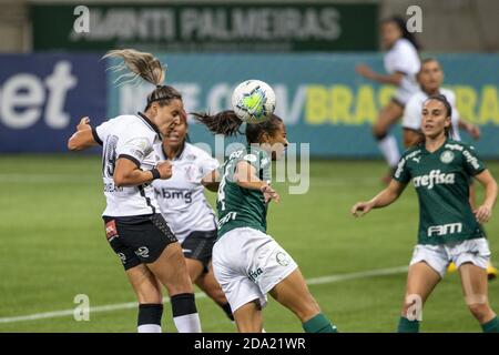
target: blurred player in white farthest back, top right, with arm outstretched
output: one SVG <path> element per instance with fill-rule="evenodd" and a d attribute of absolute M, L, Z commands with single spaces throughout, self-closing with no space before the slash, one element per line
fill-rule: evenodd
<path fill-rule="evenodd" d="M 397 87 L 395 97 L 379 112 L 373 126 L 373 135 L 390 166 L 390 174 L 384 178 L 388 183 L 400 159 L 397 141 L 389 130 L 401 118 L 409 98 L 419 90 L 416 82 L 416 74 L 419 72 L 419 45 L 413 33 L 407 31 L 405 20 L 399 17 L 391 17 L 381 22 L 381 41 L 383 47 L 388 49 L 384 58 L 388 74 L 379 74 L 364 64 L 357 67 L 357 72 L 366 79 Z"/>

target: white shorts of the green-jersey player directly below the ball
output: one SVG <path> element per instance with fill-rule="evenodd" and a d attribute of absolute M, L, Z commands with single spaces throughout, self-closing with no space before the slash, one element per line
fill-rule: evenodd
<path fill-rule="evenodd" d="M 213 272 L 232 312 L 266 294 L 298 265 L 274 239 L 251 227 L 225 233 L 213 247 Z"/>

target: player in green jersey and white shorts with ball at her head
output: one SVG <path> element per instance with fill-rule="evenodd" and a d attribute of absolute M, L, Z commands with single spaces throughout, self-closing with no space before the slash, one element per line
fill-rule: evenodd
<path fill-rule="evenodd" d="M 233 111 L 195 114 L 212 132 L 234 135 L 243 123 Z M 241 333 L 259 333 L 269 293 L 291 310 L 307 333 L 336 333 L 320 312 L 295 261 L 266 234 L 267 206 L 279 195 L 271 187 L 272 160 L 284 155 L 286 130 L 276 115 L 246 124 L 248 145 L 234 151 L 222 168 L 218 187 L 218 240 L 213 270 Z"/>

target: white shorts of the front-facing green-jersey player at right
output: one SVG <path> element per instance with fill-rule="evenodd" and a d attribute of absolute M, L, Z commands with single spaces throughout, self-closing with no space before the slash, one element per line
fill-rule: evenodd
<path fill-rule="evenodd" d="M 441 245 L 418 244 L 414 248 L 410 265 L 426 262 L 440 277 L 444 277 L 450 262 L 454 262 L 456 267 L 465 263 L 471 263 L 478 267 L 487 268 L 489 261 L 489 243 L 485 237 L 480 237 Z"/>

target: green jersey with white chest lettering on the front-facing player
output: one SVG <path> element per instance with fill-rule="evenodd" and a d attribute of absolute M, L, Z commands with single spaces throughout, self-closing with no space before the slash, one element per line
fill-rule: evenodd
<path fill-rule="evenodd" d="M 419 200 L 418 244 L 485 236 L 469 204 L 470 179 L 485 169 L 472 146 L 450 139 L 432 153 L 419 144 L 403 154 L 394 179 L 413 179 Z"/>

